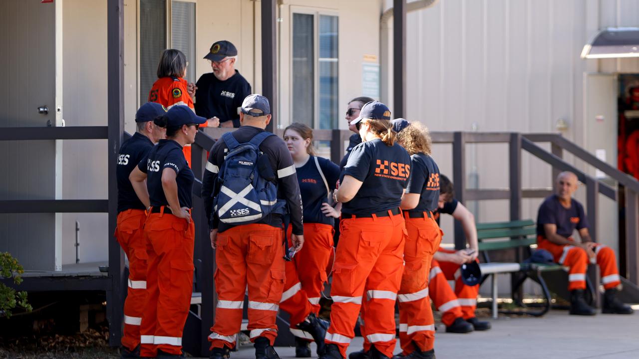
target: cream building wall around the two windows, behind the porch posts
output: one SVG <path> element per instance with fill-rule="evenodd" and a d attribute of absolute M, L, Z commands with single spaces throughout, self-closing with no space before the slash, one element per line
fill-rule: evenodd
<path fill-rule="evenodd" d="M 137 0 L 125 0 L 125 129 L 135 131 L 135 111 L 138 98 Z M 370 6 L 371 3 L 373 6 Z M 189 59 L 196 66 L 197 77 L 210 72 L 204 54 L 213 42 L 229 40 L 238 47 L 236 68 L 254 92 L 261 92 L 261 3 L 252 0 L 196 1 L 196 55 Z M 364 54 L 379 56 L 379 26 L 381 0 L 376 1 L 282 1 L 281 17 L 282 63 L 279 73 L 281 126 L 291 122 L 289 113 L 289 38 L 291 13 L 295 8 L 313 8 L 339 16 L 339 112 L 343 113 L 350 98 L 362 90 Z M 107 2 L 65 0 L 63 3 L 63 93 L 66 126 L 107 125 Z M 353 21 L 352 14 L 358 13 Z M 361 39 L 371 39 L 362 41 Z M 143 99 L 144 100 L 144 99 Z M 339 121 L 342 128 L 346 123 Z M 107 198 L 107 142 L 63 141 L 64 199 Z M 62 215 L 62 264 L 75 263 L 75 222 L 79 222 L 79 259 L 82 263 L 106 261 L 110 240 L 105 213 L 65 213 Z"/>

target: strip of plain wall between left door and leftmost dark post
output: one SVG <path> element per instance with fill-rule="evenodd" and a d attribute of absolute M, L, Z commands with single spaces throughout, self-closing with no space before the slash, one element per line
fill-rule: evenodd
<path fill-rule="evenodd" d="M 107 125 L 107 2 L 63 2 L 63 93 L 66 126 Z M 63 199 L 107 198 L 107 140 L 63 142 Z M 62 215 L 62 264 L 75 263 L 75 222 L 79 259 L 106 261 L 107 213 Z"/>

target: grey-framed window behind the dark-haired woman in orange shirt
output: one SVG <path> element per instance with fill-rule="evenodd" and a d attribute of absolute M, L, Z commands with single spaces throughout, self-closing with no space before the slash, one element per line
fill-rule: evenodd
<path fill-rule="evenodd" d="M 167 48 L 167 0 L 140 1 L 140 103 L 148 99 L 162 51 Z M 189 66 L 185 79 L 196 80 L 196 4 L 171 1 L 171 45 L 185 54 Z"/>

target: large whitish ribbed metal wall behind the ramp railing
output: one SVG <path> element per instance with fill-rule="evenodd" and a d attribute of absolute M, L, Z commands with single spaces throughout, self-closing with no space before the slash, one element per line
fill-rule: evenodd
<path fill-rule="evenodd" d="M 431 130 L 467 132 L 557 132 L 557 120 L 565 119 L 569 128 L 562 135 L 588 148 L 586 121 L 594 119 L 584 113 L 583 73 L 639 72 L 639 60 L 585 60 L 581 49 L 601 27 L 637 26 L 638 6 L 626 0 L 445 0 L 408 13 L 406 116 Z M 434 149 L 445 174 L 452 173 L 450 151 L 450 145 Z M 468 145 L 466 151 L 468 188 L 508 187 L 506 144 Z M 565 158 L 594 174 L 580 160 Z M 551 186 L 550 165 L 527 153 L 522 160 L 524 188 Z M 577 197 L 585 200 L 585 188 Z M 535 219 L 541 200 L 525 199 L 523 218 Z M 614 204 L 604 197 L 600 202 L 610 211 L 600 211 L 599 239 L 617 248 L 617 229 L 606 227 L 616 223 Z M 466 204 L 480 222 L 508 219 L 508 201 Z M 452 234 L 452 221 L 444 220 L 443 229 Z"/>

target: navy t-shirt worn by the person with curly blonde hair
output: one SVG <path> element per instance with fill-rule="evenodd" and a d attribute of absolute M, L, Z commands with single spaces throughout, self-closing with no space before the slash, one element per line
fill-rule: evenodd
<path fill-rule="evenodd" d="M 406 193 L 420 194 L 417 207 L 410 211 L 434 211 L 439 202 L 439 167 L 433 157 L 424 153 L 415 153 L 410 160 L 412 165 Z"/>

